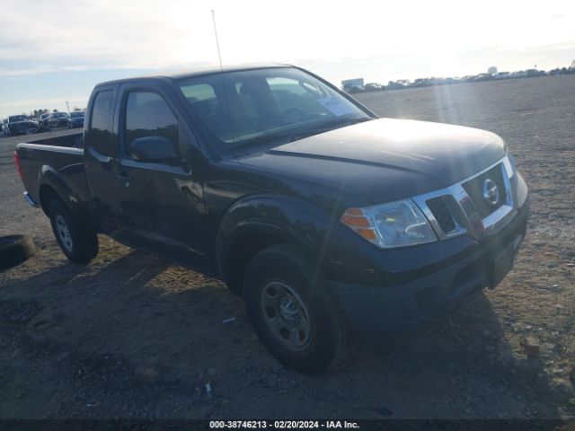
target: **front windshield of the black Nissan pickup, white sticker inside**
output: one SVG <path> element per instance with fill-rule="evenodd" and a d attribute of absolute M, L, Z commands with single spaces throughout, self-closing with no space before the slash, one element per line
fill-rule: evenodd
<path fill-rule="evenodd" d="M 204 75 L 179 85 L 211 135 L 233 147 L 296 140 L 371 118 L 330 86 L 291 67 Z"/>

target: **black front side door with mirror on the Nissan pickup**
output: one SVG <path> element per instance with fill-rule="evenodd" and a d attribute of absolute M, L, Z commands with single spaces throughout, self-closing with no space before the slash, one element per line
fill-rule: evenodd
<path fill-rule="evenodd" d="M 124 241 L 206 268 L 203 188 L 190 155 L 194 138 L 162 88 L 127 85 L 121 92 L 117 182 Z"/>

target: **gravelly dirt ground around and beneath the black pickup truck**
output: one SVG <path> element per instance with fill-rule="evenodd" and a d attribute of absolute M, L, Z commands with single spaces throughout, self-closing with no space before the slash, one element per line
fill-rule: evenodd
<path fill-rule="evenodd" d="M 69 263 L 24 203 L 3 138 L 0 234 L 29 233 L 38 251 L 0 273 L 0 418 L 575 417 L 575 75 L 358 99 L 507 141 L 532 216 L 500 286 L 383 350 L 351 349 L 328 374 L 297 374 L 216 280 L 104 236 L 90 265 Z"/>

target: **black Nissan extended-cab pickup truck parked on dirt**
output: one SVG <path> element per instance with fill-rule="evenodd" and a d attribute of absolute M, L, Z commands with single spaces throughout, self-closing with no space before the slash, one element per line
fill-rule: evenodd
<path fill-rule="evenodd" d="M 379 119 L 298 67 L 99 84 L 85 118 L 83 139 L 15 154 L 66 256 L 107 233 L 222 279 L 304 373 L 496 286 L 526 232 L 499 136 Z"/>

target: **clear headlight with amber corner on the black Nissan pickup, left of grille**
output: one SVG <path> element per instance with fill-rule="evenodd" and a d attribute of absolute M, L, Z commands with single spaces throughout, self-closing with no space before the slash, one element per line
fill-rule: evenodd
<path fill-rule="evenodd" d="M 376 207 L 349 208 L 341 216 L 341 223 L 382 249 L 438 241 L 411 199 Z"/>

